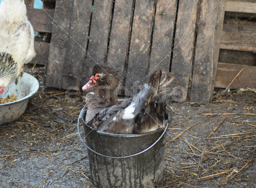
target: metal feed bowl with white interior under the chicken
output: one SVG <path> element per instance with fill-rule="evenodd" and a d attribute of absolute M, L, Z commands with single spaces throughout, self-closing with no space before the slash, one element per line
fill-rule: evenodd
<path fill-rule="evenodd" d="M 28 73 L 23 73 L 22 76 L 19 76 L 17 84 L 15 82 L 16 80 L 12 81 L 1 94 L 1 98 L 6 98 L 14 93 L 18 100 L 0 104 L 0 125 L 13 122 L 21 117 L 27 107 L 28 99 L 39 88 L 37 79 Z"/>

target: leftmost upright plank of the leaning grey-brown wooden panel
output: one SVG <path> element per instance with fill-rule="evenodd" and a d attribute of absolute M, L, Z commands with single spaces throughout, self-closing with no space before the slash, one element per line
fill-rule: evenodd
<path fill-rule="evenodd" d="M 72 0 L 58 0 L 56 2 L 54 19 L 66 31 L 69 32 L 72 12 Z M 49 61 L 46 71 L 45 85 L 61 88 L 63 83 L 65 52 L 69 45 L 69 37 L 66 32 L 55 22 L 52 25 Z"/>

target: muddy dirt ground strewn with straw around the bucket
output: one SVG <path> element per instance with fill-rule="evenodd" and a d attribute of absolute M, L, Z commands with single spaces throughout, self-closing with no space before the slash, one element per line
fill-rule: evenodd
<path fill-rule="evenodd" d="M 0 127 L 0 187 L 94 187 L 77 132 L 83 98 L 40 81 L 16 122 Z M 170 103 L 164 176 L 155 187 L 256 187 L 256 93 L 217 91 L 208 105 Z M 210 135 L 211 134 L 211 135 Z M 208 136 L 210 135 L 210 136 Z"/>

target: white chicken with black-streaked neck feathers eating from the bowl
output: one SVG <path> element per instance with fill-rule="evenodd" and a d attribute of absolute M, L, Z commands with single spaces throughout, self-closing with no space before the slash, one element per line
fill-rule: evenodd
<path fill-rule="evenodd" d="M 0 4 L 0 94 L 36 56 L 34 29 L 27 18 L 24 0 Z"/>

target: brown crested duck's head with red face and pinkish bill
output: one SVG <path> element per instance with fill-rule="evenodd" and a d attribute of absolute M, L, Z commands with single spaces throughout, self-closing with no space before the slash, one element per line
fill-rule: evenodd
<path fill-rule="evenodd" d="M 119 87 L 123 81 L 123 77 L 118 70 L 105 65 L 95 65 L 92 69 L 92 75 L 89 82 L 82 87 L 82 90 L 93 86 L 104 86 L 114 90 Z"/>

